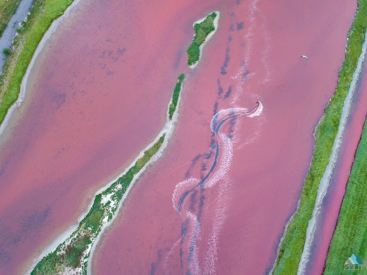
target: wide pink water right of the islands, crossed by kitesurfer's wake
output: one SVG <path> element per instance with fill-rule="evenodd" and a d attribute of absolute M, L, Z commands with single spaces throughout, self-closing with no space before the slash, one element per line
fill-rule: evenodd
<path fill-rule="evenodd" d="M 131 3 L 142 13 L 134 22 L 177 30 L 169 41 L 182 43 L 172 55 L 179 69 L 192 23 L 215 10 L 221 17 L 199 65 L 182 69 L 174 133 L 103 234 L 94 275 L 268 274 L 309 169 L 314 127 L 337 85 L 356 4 Z"/>

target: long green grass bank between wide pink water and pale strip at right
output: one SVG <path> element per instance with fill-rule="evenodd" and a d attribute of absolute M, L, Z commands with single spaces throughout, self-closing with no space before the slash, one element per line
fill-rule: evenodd
<path fill-rule="evenodd" d="M 325 109 L 325 113 L 319 124 L 315 128 L 315 150 L 313 152 L 310 169 L 302 188 L 301 197 L 298 202 L 298 209 L 287 224 L 280 243 L 278 257 L 273 269 L 273 274 L 276 275 L 297 274 L 298 271 L 298 265 L 306 239 L 306 229 L 315 207 L 319 183 L 332 153 L 334 140 L 337 135 L 338 126 L 341 119 L 344 99 L 348 94 L 353 73 L 356 70 L 357 62 L 362 51 L 362 45 L 365 40 L 364 34 L 367 27 L 367 0 L 359 0 L 358 4 L 359 6 L 355 21 L 349 30 L 346 59 L 343 63 L 342 69 L 339 72 L 338 85 L 335 90 L 335 94 Z M 366 133 L 364 133 L 364 135 L 366 135 Z M 363 182 L 365 183 L 366 181 Z M 357 214 L 359 209 L 354 209 L 354 211 L 355 215 L 357 215 L 359 219 L 361 216 L 363 216 Z M 364 225 L 364 227 L 366 227 L 366 225 Z M 335 247 L 335 249 L 341 250 L 341 247 Z M 340 251 L 340 253 L 343 253 L 344 255 L 344 252 Z M 348 257 L 350 257 L 350 255 Z M 333 258 L 330 257 L 330 259 Z M 334 260 L 328 259 L 328 263 L 331 263 L 331 261 Z M 337 265 L 339 262 L 336 261 L 335 264 Z M 333 272 L 328 274 L 340 274 L 340 272 L 343 271 L 342 267 L 343 265 L 341 265 L 341 270 L 338 272 L 333 269 Z"/>

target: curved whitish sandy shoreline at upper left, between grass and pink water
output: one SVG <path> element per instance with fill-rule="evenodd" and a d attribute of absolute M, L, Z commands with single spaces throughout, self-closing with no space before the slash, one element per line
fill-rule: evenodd
<path fill-rule="evenodd" d="M 65 17 L 67 17 L 69 15 L 70 11 L 76 8 L 76 5 L 79 3 L 79 1 L 80 0 L 74 0 L 74 2 L 68 8 L 66 8 L 64 14 L 61 15 L 61 17 L 57 18 L 56 20 L 54 20 L 54 22 L 52 22 L 51 26 L 48 28 L 47 32 L 42 37 L 40 43 L 38 44 L 38 46 L 36 48 L 36 51 L 34 51 L 34 54 L 32 56 L 32 59 L 29 62 L 29 65 L 27 67 L 26 73 L 23 76 L 18 99 L 9 108 L 8 113 L 6 114 L 3 122 L 0 125 L 0 135 L 5 131 L 5 128 L 8 125 L 8 122 L 10 120 L 10 116 L 11 116 L 12 112 L 16 108 L 18 108 L 21 105 L 21 103 L 23 102 L 23 100 L 24 100 L 24 97 L 25 97 L 25 94 L 26 94 L 26 86 L 27 86 L 27 81 L 28 81 L 28 77 L 29 77 L 29 74 L 30 74 L 30 70 L 32 70 L 32 67 L 34 65 L 34 62 L 36 62 L 37 56 L 39 55 L 40 51 L 43 49 L 44 45 L 46 44 L 47 39 L 50 38 L 51 34 L 56 31 L 57 26 L 63 21 L 63 19 Z"/>

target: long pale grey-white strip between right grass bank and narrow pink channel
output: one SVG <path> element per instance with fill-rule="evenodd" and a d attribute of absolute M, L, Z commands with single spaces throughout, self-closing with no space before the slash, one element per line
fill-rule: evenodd
<path fill-rule="evenodd" d="M 366 31 L 365 37 L 366 36 L 367 36 L 367 31 Z M 315 208 L 313 209 L 312 218 L 308 222 L 305 246 L 304 246 L 304 249 L 301 255 L 301 261 L 299 262 L 299 265 L 298 265 L 297 275 L 305 274 L 306 264 L 310 256 L 310 247 L 312 245 L 312 241 L 313 241 L 316 226 L 317 226 L 317 216 L 319 216 L 321 203 L 323 201 L 323 198 L 326 195 L 327 187 L 329 186 L 329 181 L 331 178 L 331 174 L 333 173 L 335 163 L 337 162 L 337 159 L 338 159 L 339 150 L 340 150 L 340 147 L 343 141 L 345 124 L 348 119 L 348 115 L 350 111 L 350 104 L 352 103 L 354 90 L 356 88 L 359 74 L 362 70 L 362 63 L 366 56 L 366 46 L 367 46 L 367 40 L 365 40 L 363 43 L 362 52 L 361 52 L 361 55 L 359 56 L 358 63 L 357 63 L 357 68 L 353 73 L 352 82 L 350 83 L 348 94 L 346 95 L 346 98 L 344 100 L 343 111 L 342 111 L 342 116 L 340 118 L 338 133 L 337 133 L 337 136 L 335 137 L 335 141 L 333 145 L 333 153 L 330 156 L 329 163 L 326 166 L 324 175 L 321 178 L 321 181 L 319 184 L 319 189 L 317 190 Z"/>

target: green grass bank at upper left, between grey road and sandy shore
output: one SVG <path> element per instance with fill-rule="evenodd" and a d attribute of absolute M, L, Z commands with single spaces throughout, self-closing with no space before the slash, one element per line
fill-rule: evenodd
<path fill-rule="evenodd" d="M 19 36 L 11 47 L 11 55 L 6 59 L 0 84 L 0 123 L 3 122 L 10 106 L 17 100 L 22 78 L 33 53 L 51 23 L 59 18 L 73 0 L 34 0 L 19 29 Z"/>

